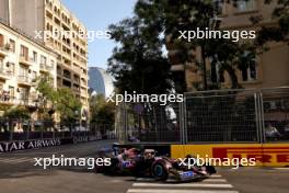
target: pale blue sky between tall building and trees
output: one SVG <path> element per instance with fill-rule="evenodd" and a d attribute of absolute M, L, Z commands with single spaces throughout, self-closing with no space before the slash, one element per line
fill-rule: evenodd
<path fill-rule="evenodd" d="M 61 0 L 89 31 L 105 31 L 132 15 L 137 0 Z M 89 66 L 107 67 L 107 59 L 116 44 L 111 39 L 96 38 L 89 43 Z"/>

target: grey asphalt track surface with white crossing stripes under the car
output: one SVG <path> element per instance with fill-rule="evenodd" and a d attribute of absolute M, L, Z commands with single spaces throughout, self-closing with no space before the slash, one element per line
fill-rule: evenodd
<path fill-rule="evenodd" d="M 93 158 L 112 140 L 0 154 L 0 193 L 288 193 L 289 169 L 218 168 L 203 182 L 155 182 L 146 178 L 111 177 L 86 167 L 35 167 L 34 158 L 53 155 Z"/>

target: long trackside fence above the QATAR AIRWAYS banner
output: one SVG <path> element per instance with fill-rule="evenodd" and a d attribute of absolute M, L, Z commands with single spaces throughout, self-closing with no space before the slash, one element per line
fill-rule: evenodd
<path fill-rule="evenodd" d="M 96 137 L 115 138 L 112 126 L 107 124 L 79 125 L 71 123 L 56 124 L 48 121 L 21 118 L 0 118 L 0 141 L 36 140 L 48 138 Z"/>

